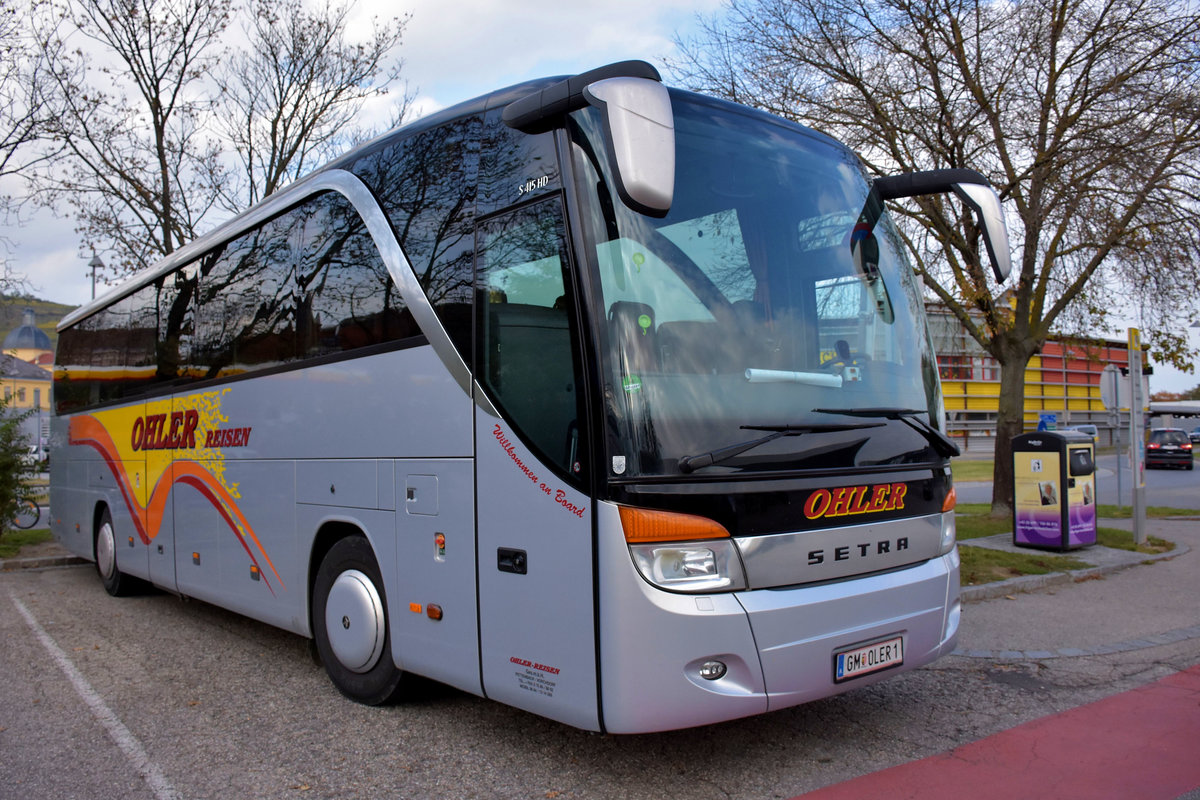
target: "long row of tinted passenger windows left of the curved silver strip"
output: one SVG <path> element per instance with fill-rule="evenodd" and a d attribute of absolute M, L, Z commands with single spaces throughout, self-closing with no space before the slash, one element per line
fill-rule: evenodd
<path fill-rule="evenodd" d="M 320 194 L 62 331 L 55 407 L 420 333 L 353 205 Z"/>

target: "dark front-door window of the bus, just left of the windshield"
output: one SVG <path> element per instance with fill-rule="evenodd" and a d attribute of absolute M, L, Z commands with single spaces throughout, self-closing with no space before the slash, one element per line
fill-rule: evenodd
<path fill-rule="evenodd" d="M 476 379 L 522 438 L 577 480 L 578 344 L 566 266 L 557 198 L 479 225 Z"/>

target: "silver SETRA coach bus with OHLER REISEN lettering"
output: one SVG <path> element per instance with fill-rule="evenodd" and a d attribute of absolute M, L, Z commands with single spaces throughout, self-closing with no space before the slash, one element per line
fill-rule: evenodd
<path fill-rule="evenodd" d="M 922 297 L 823 136 L 623 62 L 404 126 L 59 326 L 53 530 L 316 639 L 611 733 L 926 664 L 959 622 Z"/>

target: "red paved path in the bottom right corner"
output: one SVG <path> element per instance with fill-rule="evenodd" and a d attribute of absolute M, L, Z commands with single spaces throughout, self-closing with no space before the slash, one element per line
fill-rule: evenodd
<path fill-rule="evenodd" d="M 1174 800 L 1198 787 L 1200 664 L 804 798 Z"/>

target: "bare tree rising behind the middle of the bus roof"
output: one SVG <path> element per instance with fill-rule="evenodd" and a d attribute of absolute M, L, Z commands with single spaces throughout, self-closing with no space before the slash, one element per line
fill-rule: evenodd
<path fill-rule="evenodd" d="M 238 154 L 250 204 L 346 148 L 362 126 L 364 102 L 388 92 L 401 60 L 389 62 L 408 18 L 373 24 L 360 42 L 346 36 L 349 6 L 307 11 L 301 0 L 257 0 L 247 49 L 221 73 L 221 130 Z M 410 102 L 400 98 L 401 116 Z"/>

